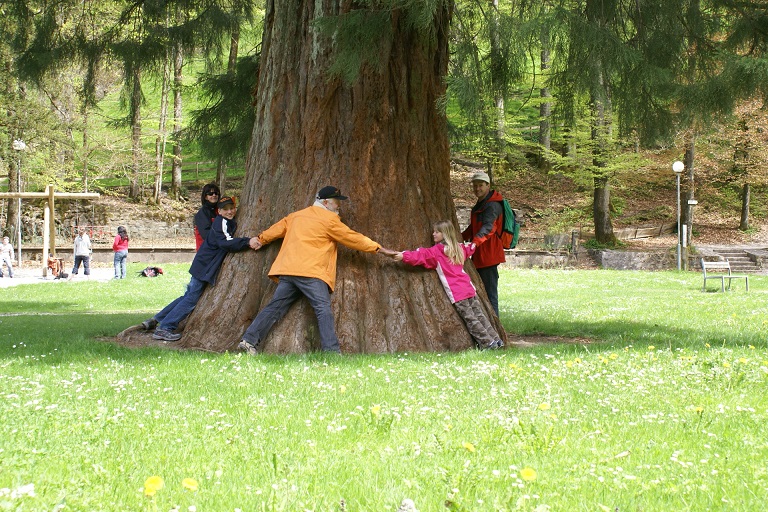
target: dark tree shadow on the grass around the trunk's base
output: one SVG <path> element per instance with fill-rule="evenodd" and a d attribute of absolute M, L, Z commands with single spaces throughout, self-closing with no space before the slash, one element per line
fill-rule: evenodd
<path fill-rule="evenodd" d="M 30 363 L 63 364 L 82 360 L 97 362 L 102 358 L 126 362 L 157 360 L 158 358 L 199 358 L 199 351 L 168 350 L 158 346 L 125 347 L 114 337 L 122 330 L 144 320 L 145 313 L 51 313 L 11 314 L 0 316 L 0 361 L 24 358 Z M 692 326 L 669 326 L 621 320 L 554 321 L 544 315 L 521 315 L 517 324 L 527 326 L 524 332 L 511 331 L 508 350 L 526 346 L 515 340 L 533 340 L 528 345 L 557 345 L 558 350 L 603 351 L 616 347 L 702 348 L 705 344 L 719 346 L 748 346 L 765 348 L 765 332 L 733 332 L 722 325 L 702 330 Z M 511 322 L 507 322 L 511 324 Z M 543 342 L 542 342 L 543 340 Z M 502 352 L 493 352 L 501 354 Z M 211 354 L 215 357 L 216 354 Z M 399 354 L 400 356 L 402 354 Z M 368 354 L 366 357 L 392 357 L 389 354 Z M 285 357 L 306 358 L 312 362 L 345 364 L 345 358 L 322 353 L 291 356 L 259 356 L 261 361 Z"/>

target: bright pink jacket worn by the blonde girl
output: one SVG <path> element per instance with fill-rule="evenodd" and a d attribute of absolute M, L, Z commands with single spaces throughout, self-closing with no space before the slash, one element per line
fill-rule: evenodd
<path fill-rule="evenodd" d="M 462 244 L 461 247 L 464 249 L 465 258 L 475 252 L 475 244 Z M 451 304 L 477 295 L 472 280 L 464 272 L 464 266 L 453 263 L 446 256 L 445 245 L 441 243 L 429 248 L 420 247 L 415 251 L 404 251 L 403 263 L 437 270 Z"/>

